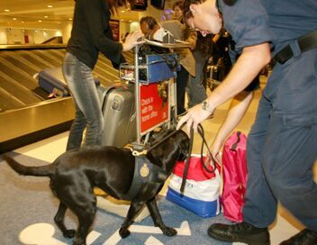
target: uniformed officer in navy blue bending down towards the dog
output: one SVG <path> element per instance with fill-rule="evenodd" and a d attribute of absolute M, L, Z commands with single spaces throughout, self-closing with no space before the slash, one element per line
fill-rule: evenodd
<path fill-rule="evenodd" d="M 186 0 L 186 23 L 203 34 L 224 28 L 239 59 L 202 105 L 180 120 L 196 129 L 213 110 L 238 94 L 271 56 L 276 66 L 249 132 L 244 222 L 213 224 L 217 240 L 270 244 L 267 227 L 281 202 L 306 227 L 281 244 L 317 244 L 317 1 Z M 271 52 L 272 50 L 272 52 Z"/>

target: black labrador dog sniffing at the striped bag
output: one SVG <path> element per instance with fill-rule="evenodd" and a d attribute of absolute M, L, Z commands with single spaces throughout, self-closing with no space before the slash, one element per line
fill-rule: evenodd
<path fill-rule="evenodd" d="M 149 150 L 147 159 L 152 166 L 165 172 L 166 177 L 171 174 L 177 160 L 186 159 L 189 149 L 189 138 L 186 132 L 174 132 L 166 141 Z M 117 199 L 130 200 L 129 212 L 119 231 L 122 238 L 130 234 L 129 226 L 140 212 L 144 204 L 149 208 L 150 216 L 155 226 L 158 226 L 165 235 L 174 236 L 177 231 L 167 227 L 159 214 L 155 197 L 164 185 L 164 181 L 149 181 L 139 183 L 139 188 L 132 197 L 126 197 L 131 191 L 135 158 L 131 150 L 115 147 L 93 147 L 80 150 L 70 150 L 56 159 L 53 164 L 41 167 L 26 167 L 14 159 L 4 156 L 7 163 L 23 176 L 50 177 L 50 188 L 59 198 L 59 210 L 55 215 L 63 236 L 73 238 L 73 244 L 85 245 L 95 219 L 96 198 L 94 187 L 99 187 Z M 144 167 L 144 166 L 143 166 Z M 147 176 L 151 169 L 140 168 L 140 176 Z M 160 174 L 160 173 L 159 173 Z M 163 177 L 165 180 L 166 177 Z M 134 188 L 135 189 L 135 188 Z M 64 215 L 67 209 L 77 215 L 78 228 L 68 230 L 64 224 Z"/>

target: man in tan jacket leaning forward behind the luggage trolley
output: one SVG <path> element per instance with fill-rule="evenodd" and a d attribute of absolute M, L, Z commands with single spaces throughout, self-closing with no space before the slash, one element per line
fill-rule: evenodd
<path fill-rule="evenodd" d="M 196 33 L 186 32 L 185 25 L 177 20 L 158 23 L 153 17 L 145 16 L 140 19 L 140 30 L 147 36 L 153 36 L 159 28 L 164 28 L 172 33 L 178 40 L 188 41 L 191 47 L 195 47 Z M 181 70 L 177 71 L 177 114 L 186 113 L 185 93 L 189 74 L 195 76 L 195 59 L 188 48 L 176 49 L 175 52 L 180 56 Z"/>

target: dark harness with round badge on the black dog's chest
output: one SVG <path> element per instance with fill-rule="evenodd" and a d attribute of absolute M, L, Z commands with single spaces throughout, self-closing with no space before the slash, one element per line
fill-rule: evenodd
<path fill-rule="evenodd" d="M 133 180 L 129 191 L 122 197 L 124 200 L 131 200 L 140 191 L 144 183 L 162 184 L 168 178 L 168 173 L 152 164 L 149 159 L 143 156 L 135 157 Z"/>

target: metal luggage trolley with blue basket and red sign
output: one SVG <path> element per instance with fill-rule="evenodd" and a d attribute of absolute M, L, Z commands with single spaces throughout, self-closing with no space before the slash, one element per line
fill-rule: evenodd
<path fill-rule="evenodd" d="M 131 143 L 134 150 L 144 148 L 150 132 L 162 125 L 170 128 L 172 123 L 176 123 L 177 85 L 174 78 L 177 70 L 168 66 L 168 60 L 180 66 L 173 50 L 190 47 L 185 41 L 163 43 L 145 40 L 145 44 L 169 49 L 170 52 L 149 54 L 142 60 L 139 55 L 141 44 L 134 48 L 134 64 L 124 63 L 120 67 L 120 77 L 135 84 L 136 141 Z"/>

